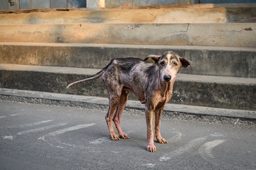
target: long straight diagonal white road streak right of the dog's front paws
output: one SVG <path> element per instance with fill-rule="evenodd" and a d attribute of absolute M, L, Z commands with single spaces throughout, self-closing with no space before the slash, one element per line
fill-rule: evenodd
<path fill-rule="evenodd" d="M 197 138 L 193 139 L 192 141 L 188 142 L 187 145 L 184 145 L 180 148 L 177 148 L 176 150 L 172 151 L 170 154 L 164 154 L 162 157 L 160 157 L 160 161 L 167 161 L 170 159 L 173 159 L 179 155 L 184 154 L 185 152 L 189 152 L 195 147 L 196 145 L 199 145 L 200 143 L 204 142 L 206 137 L 203 138 Z"/>

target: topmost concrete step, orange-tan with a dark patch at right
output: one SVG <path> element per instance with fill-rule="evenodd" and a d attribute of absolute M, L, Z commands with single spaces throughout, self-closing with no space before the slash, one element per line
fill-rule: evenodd
<path fill-rule="evenodd" d="M 0 24 L 255 23 L 255 11 L 256 3 L 8 10 Z"/>

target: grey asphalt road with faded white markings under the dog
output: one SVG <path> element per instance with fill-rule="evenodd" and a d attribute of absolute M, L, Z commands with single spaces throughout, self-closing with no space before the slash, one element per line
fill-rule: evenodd
<path fill-rule="evenodd" d="M 146 151 L 146 119 L 126 110 L 130 139 L 111 141 L 106 107 L 0 101 L 0 169 L 256 169 L 256 126 L 239 120 L 162 118 L 167 144 Z"/>

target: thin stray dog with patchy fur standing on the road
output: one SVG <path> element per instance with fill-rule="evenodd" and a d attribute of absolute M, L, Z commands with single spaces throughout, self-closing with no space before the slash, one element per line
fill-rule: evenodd
<path fill-rule="evenodd" d="M 148 62 L 148 61 L 152 62 Z M 150 55 L 147 58 L 117 58 L 104 67 L 92 78 L 79 80 L 68 85 L 85 82 L 97 78 L 103 79 L 108 90 L 109 109 L 106 123 L 109 128 L 110 139 L 117 141 L 119 137 L 129 139 L 120 126 L 120 118 L 125 108 L 129 92 L 133 92 L 145 104 L 147 122 L 147 151 L 155 152 L 154 133 L 152 129 L 153 113 L 155 112 L 155 137 L 159 143 L 167 143 L 160 135 L 160 116 L 164 104 L 172 96 L 176 73 L 180 67 L 192 65 L 191 61 L 179 57 L 174 52 L 165 52 L 160 56 Z M 67 87 L 67 88 L 68 88 Z M 115 134 L 112 121 L 117 128 L 119 137 Z"/>

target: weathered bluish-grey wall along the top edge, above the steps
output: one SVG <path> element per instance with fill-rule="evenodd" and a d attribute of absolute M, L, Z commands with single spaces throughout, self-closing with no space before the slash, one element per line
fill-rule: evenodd
<path fill-rule="evenodd" d="M 95 8 L 120 6 L 185 5 L 193 3 L 248 3 L 256 0 L 0 0 L 0 10 L 34 8 Z"/>

